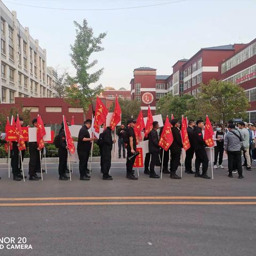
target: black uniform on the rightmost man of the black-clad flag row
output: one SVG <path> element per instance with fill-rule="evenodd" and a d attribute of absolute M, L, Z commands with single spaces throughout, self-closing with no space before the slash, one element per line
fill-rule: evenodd
<path fill-rule="evenodd" d="M 206 174 L 208 169 L 209 159 L 205 151 L 206 144 L 203 139 L 202 129 L 199 127 L 195 127 L 193 134 L 194 134 L 193 146 L 196 153 L 196 161 L 195 161 L 196 173 L 197 174 L 199 173 L 199 168 L 202 163 L 203 165 L 202 174 Z"/>

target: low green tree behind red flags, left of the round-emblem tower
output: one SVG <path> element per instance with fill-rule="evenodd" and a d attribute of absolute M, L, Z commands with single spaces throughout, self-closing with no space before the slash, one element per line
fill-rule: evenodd
<path fill-rule="evenodd" d="M 131 117 L 137 118 L 140 113 L 140 101 L 138 100 L 125 100 L 118 99 L 119 105 L 122 110 L 122 124 L 126 124 L 127 120 Z M 113 101 L 112 105 L 109 108 L 109 112 L 113 112 L 115 109 L 115 101 Z"/>

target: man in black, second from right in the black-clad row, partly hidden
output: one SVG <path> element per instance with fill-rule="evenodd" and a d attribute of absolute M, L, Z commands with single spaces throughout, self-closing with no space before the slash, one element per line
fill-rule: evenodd
<path fill-rule="evenodd" d="M 192 171 L 192 159 L 193 159 L 194 153 L 195 153 L 195 150 L 193 148 L 194 125 L 195 125 L 195 122 L 190 119 L 188 121 L 188 127 L 187 127 L 190 148 L 186 150 L 186 158 L 185 158 L 185 172 L 188 174 L 195 174 L 195 172 Z"/>

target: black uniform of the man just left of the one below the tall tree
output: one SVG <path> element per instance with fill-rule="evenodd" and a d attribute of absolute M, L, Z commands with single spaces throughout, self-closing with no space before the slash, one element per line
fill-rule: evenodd
<path fill-rule="evenodd" d="M 66 175 L 67 157 L 68 157 L 68 150 L 66 149 L 67 142 L 66 142 L 66 135 L 65 135 L 64 129 L 60 129 L 59 137 L 60 137 L 60 147 L 58 149 L 59 175 L 60 177 L 63 177 L 63 175 Z"/>

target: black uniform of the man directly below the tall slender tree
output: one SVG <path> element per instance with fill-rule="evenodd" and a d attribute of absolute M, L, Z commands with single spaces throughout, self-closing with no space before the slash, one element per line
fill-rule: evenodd
<path fill-rule="evenodd" d="M 90 156 L 91 141 L 83 141 L 83 138 L 90 138 L 90 133 L 86 125 L 83 125 L 78 134 L 77 153 L 79 158 L 80 176 L 86 176 L 88 159 Z"/>

